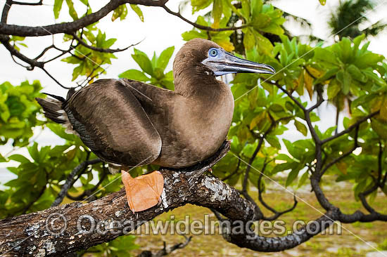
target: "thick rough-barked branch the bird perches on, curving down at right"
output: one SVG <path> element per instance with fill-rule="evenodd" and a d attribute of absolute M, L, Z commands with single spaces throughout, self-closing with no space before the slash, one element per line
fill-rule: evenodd
<path fill-rule="evenodd" d="M 146 211 L 132 213 L 122 189 L 88 204 L 73 202 L 0 220 L 0 256 L 65 256 L 127 235 L 161 213 L 185 204 L 207 207 L 227 217 L 221 219 L 221 223 L 231 223 L 220 227 L 224 239 L 254 251 L 291 249 L 328 228 L 334 220 L 342 219 L 341 212 L 334 209 L 315 220 L 313 232 L 303 227 L 283 237 L 262 237 L 249 231 L 246 224 L 262 218 L 257 216 L 258 206 L 219 178 L 201 176 L 229 149 L 226 141 L 214 156 L 200 164 L 179 171 L 161 168 L 161 202 Z M 234 232 L 241 222 L 246 225 L 245 230 Z"/>

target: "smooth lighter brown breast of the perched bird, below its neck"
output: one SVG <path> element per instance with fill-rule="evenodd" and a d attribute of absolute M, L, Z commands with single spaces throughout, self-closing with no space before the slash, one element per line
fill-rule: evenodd
<path fill-rule="evenodd" d="M 215 95 L 200 95 L 175 103 L 168 135 L 159 131 L 163 141 L 156 164 L 167 167 L 191 166 L 216 152 L 227 136 L 234 112 L 230 89 L 221 88 Z"/>

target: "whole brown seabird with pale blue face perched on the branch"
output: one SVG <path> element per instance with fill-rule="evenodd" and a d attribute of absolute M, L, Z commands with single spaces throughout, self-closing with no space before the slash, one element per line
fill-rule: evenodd
<path fill-rule="evenodd" d="M 205 39 L 188 41 L 173 63 L 175 91 L 129 79 L 101 79 L 67 99 L 37 101 L 46 117 L 80 136 L 110 168 L 122 171 L 130 209 L 158 204 L 163 176 L 132 178 L 129 167 L 192 166 L 222 145 L 234 112 L 227 84 L 216 77 L 237 72 L 274 74 L 269 65 L 237 58 Z"/>

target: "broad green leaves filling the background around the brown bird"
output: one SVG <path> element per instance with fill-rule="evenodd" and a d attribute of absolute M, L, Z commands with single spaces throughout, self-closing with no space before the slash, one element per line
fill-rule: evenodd
<path fill-rule="evenodd" d="M 88 2 L 80 1 L 91 13 Z M 325 1 L 320 0 L 320 3 L 324 5 Z M 71 17 L 79 18 L 72 1 L 66 0 L 66 4 Z M 182 33 L 182 38 L 186 41 L 196 37 L 210 39 L 227 51 L 234 51 L 235 55 L 265 62 L 277 70 L 274 75 L 236 74 L 233 77 L 231 91 L 236 102 L 229 131 L 231 152 L 214 167 L 215 176 L 230 185 L 239 185 L 251 164 L 248 183 L 265 190 L 265 181 L 260 180 L 262 173 L 269 178 L 284 174 L 285 187 L 301 187 L 313 173 L 326 169 L 326 174 L 337 181 L 353 183 L 356 199 L 376 180 L 386 177 L 387 62 L 382 55 L 367 50 L 369 43 L 364 42 L 365 35 L 351 32 L 343 34 L 335 44 L 312 48 L 301 44 L 296 37 L 290 39 L 284 34 L 284 13 L 267 1 L 241 0 L 231 4 L 227 0 L 191 0 L 193 13 L 211 4 L 210 15 L 199 15 L 196 20 L 197 25 L 211 29 L 195 27 Z M 63 0 L 54 3 L 56 18 L 62 5 Z M 144 20 L 138 6 L 131 5 L 131 8 Z M 125 19 L 127 12 L 126 5 L 118 7 L 112 20 Z M 235 37 L 237 32 L 233 29 L 216 30 L 230 24 L 241 25 L 238 32 L 241 37 Z M 77 36 L 83 35 L 85 43 L 97 48 L 113 46 L 115 39 L 106 39 L 106 34 L 97 26 L 84 27 Z M 273 35 L 276 40 L 272 39 Z M 72 37 L 65 35 L 64 39 L 69 41 Z M 23 38 L 13 37 L 14 44 L 23 46 L 21 41 Z M 173 74 L 167 70 L 167 65 L 174 51 L 171 46 L 160 55 L 153 53 L 153 57 L 148 58 L 144 52 L 134 49 L 132 58 L 141 70 L 126 70 L 120 77 L 173 89 Z M 77 65 L 72 80 L 86 76 L 91 82 L 104 72 L 101 65 L 110 63 L 112 58 L 115 58 L 113 53 L 93 51 L 78 44 L 75 54 L 63 61 Z M 13 140 L 14 146 L 25 146 L 29 153 L 26 156 L 0 155 L 0 162 L 12 160 L 19 164 L 8 167 L 17 178 L 8 181 L 6 189 L 0 191 L 0 218 L 48 208 L 75 166 L 96 158 L 77 136 L 65 133 L 58 124 L 37 119 L 42 110 L 34 98 L 42 97 L 41 89 L 38 81 L 33 84 L 25 81 L 20 86 L 8 82 L 0 85 L 1 144 Z M 306 107 L 319 103 L 322 98 L 338 107 L 338 111 L 345 110 L 345 117 L 338 125 L 343 125 L 348 133 L 335 137 L 337 126 L 322 129 L 321 123 L 317 123 L 317 107 L 305 112 Z M 370 114 L 374 116 L 369 121 L 364 119 Z M 357 129 L 351 129 L 360 121 L 363 122 Z M 46 126 L 65 143 L 44 147 L 29 144 L 33 128 L 37 126 Z M 291 129 L 297 130 L 302 139 L 292 142 L 285 138 L 285 131 Z M 316 159 L 316 138 L 326 140 L 322 144 L 321 162 Z M 356 153 L 354 146 L 360 147 Z M 131 173 L 137 176 L 154 169 L 157 167 L 146 166 L 132 169 Z M 83 200 L 91 196 L 102 197 L 120 188 L 119 177 L 107 174 L 106 164 L 94 164 L 77 174 L 75 180 L 80 186 L 72 186 L 68 197 L 76 198 L 89 191 L 93 195 L 86 194 Z M 101 183 L 96 185 L 95 180 Z M 382 190 L 387 195 L 385 184 Z M 376 191 L 367 197 L 372 202 Z M 88 251 L 97 256 L 125 256 L 134 247 L 134 237 L 127 236 Z"/>

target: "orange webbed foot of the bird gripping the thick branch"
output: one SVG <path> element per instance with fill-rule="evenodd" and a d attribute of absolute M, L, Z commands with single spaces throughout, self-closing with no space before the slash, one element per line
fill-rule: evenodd
<path fill-rule="evenodd" d="M 127 203 L 133 213 L 149 209 L 160 202 L 164 189 L 164 178 L 160 171 L 132 178 L 129 172 L 122 170 L 121 178 L 125 186 Z"/>

